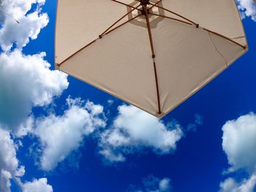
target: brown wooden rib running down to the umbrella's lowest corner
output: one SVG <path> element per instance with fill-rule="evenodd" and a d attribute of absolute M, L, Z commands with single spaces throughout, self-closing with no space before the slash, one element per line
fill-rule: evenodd
<path fill-rule="evenodd" d="M 146 16 L 146 23 L 147 23 L 147 28 L 148 28 L 148 37 L 149 37 L 149 41 L 150 41 L 153 64 L 154 64 L 154 78 L 155 78 L 156 88 L 157 88 L 158 114 L 160 115 L 161 114 L 161 107 L 160 107 L 160 96 L 159 96 L 159 84 L 158 84 L 158 78 L 157 78 L 157 66 L 156 66 L 156 62 L 155 62 L 156 55 L 154 54 L 154 45 L 153 45 L 153 39 L 152 39 L 152 33 L 151 33 L 151 26 L 150 26 L 149 19 L 148 19 L 148 9 L 147 9 L 146 5 L 143 5 L 143 10 L 144 10 L 145 16 Z"/>

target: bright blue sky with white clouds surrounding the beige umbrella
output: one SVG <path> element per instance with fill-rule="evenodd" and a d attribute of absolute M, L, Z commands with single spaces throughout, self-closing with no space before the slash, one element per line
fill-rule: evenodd
<path fill-rule="evenodd" d="M 238 4 L 249 52 L 157 120 L 54 71 L 56 1 L 3 1 L 0 191 L 256 191 L 256 5 Z"/>

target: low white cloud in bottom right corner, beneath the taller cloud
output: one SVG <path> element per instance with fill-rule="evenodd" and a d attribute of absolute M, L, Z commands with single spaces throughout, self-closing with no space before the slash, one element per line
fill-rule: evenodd
<path fill-rule="evenodd" d="M 229 177 L 224 182 L 220 183 L 219 192 L 254 192 L 256 186 L 256 174 L 248 180 L 243 180 L 241 183 L 236 183 L 233 178 Z"/>

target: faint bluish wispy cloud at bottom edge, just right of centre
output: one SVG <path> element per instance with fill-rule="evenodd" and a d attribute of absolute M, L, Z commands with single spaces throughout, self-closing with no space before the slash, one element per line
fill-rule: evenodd
<path fill-rule="evenodd" d="M 165 177 L 160 180 L 153 175 L 143 179 L 143 184 L 141 187 L 130 185 L 129 192 L 170 192 L 172 190 L 172 185 L 170 185 L 170 178 Z"/>

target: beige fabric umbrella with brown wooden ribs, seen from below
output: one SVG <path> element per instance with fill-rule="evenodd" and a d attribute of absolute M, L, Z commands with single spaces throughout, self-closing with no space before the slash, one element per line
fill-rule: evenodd
<path fill-rule="evenodd" d="M 247 51 L 233 0 L 59 0 L 56 69 L 162 118 Z"/>

